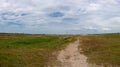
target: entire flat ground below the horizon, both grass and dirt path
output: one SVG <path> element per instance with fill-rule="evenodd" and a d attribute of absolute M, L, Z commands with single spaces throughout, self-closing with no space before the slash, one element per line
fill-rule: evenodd
<path fill-rule="evenodd" d="M 120 34 L 0 34 L 0 67 L 120 67 Z"/>

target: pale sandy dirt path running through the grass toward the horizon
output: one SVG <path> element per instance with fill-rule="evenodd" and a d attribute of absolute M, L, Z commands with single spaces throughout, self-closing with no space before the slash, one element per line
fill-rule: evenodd
<path fill-rule="evenodd" d="M 57 57 L 60 65 L 55 67 L 88 67 L 87 57 L 80 54 L 78 46 L 79 40 L 69 44 L 64 50 L 60 51 Z"/>

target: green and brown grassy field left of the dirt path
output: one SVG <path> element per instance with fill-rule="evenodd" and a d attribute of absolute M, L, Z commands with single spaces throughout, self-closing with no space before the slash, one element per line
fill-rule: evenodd
<path fill-rule="evenodd" d="M 69 35 L 0 34 L 0 67 L 47 67 Z M 54 54 L 53 54 L 54 52 Z"/>

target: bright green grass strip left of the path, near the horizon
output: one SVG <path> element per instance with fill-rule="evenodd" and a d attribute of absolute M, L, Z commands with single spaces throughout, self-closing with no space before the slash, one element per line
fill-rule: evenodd
<path fill-rule="evenodd" d="M 54 47 L 63 44 L 67 38 L 59 38 L 57 36 L 40 36 L 40 37 L 22 37 L 2 39 L 0 47 Z"/>

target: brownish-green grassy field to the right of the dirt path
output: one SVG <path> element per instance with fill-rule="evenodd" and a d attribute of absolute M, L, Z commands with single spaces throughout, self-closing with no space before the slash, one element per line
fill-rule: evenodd
<path fill-rule="evenodd" d="M 80 39 L 89 63 L 120 67 L 120 34 L 84 35 Z"/>

